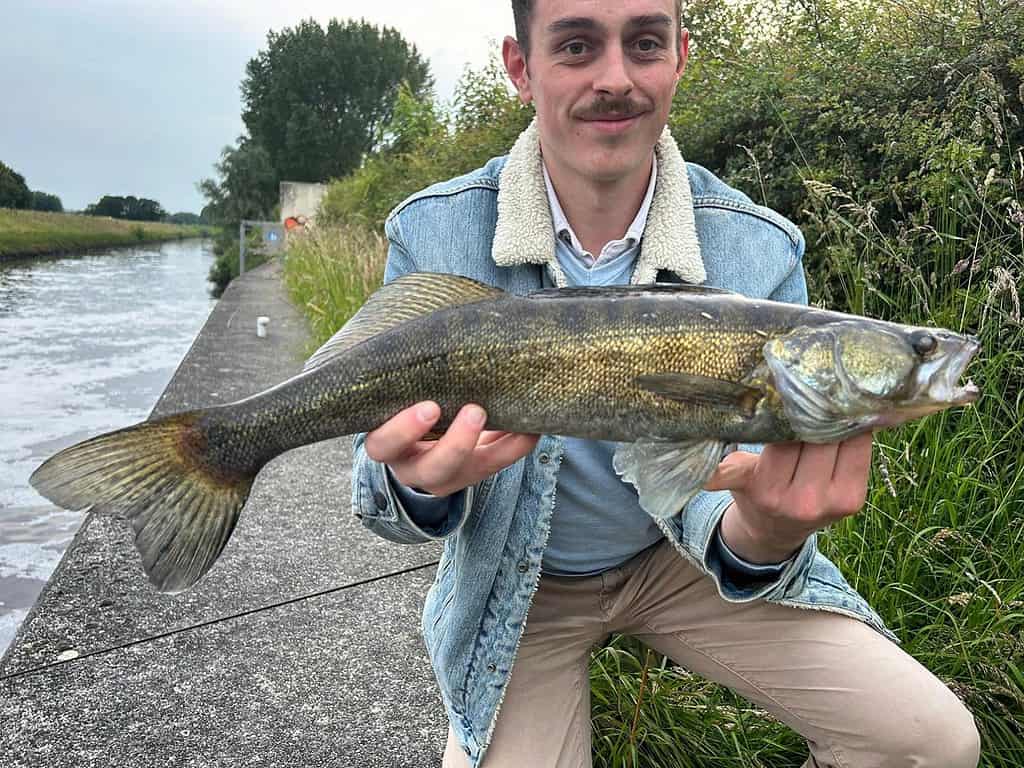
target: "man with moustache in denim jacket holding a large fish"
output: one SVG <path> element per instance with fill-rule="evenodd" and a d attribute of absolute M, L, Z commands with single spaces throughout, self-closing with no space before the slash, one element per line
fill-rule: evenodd
<path fill-rule="evenodd" d="M 537 120 L 507 158 L 395 209 L 385 281 L 683 281 L 806 302 L 800 231 L 684 163 L 665 130 L 688 50 L 678 5 L 512 5 L 505 66 Z M 588 656 L 611 632 L 771 712 L 807 738 L 808 766 L 976 765 L 971 715 L 815 547 L 864 503 L 870 435 L 744 446 L 655 521 L 613 445 L 485 431 L 473 404 L 423 441 L 438 418 L 420 403 L 357 436 L 352 486 L 371 530 L 444 542 L 423 614 L 444 766 L 591 765 Z"/>

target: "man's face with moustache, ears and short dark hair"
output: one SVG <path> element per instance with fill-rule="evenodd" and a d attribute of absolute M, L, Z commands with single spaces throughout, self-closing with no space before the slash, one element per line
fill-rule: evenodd
<path fill-rule="evenodd" d="M 537 106 L 545 161 L 596 182 L 649 168 L 686 65 L 674 0 L 536 0 L 528 65 L 505 63 Z"/>

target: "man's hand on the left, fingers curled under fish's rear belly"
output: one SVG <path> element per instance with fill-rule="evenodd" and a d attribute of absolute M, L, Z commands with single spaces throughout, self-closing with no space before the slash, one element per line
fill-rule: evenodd
<path fill-rule="evenodd" d="M 487 416 L 465 406 L 439 440 L 422 440 L 440 418 L 436 402 L 406 409 L 367 435 L 367 456 L 387 464 L 404 485 L 449 496 L 515 464 L 540 435 L 483 431 Z"/>

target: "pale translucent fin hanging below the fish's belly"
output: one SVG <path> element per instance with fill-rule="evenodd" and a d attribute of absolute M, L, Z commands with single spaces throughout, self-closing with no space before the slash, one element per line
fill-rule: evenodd
<path fill-rule="evenodd" d="M 718 468 L 725 442 L 624 442 L 611 460 L 615 472 L 632 483 L 647 514 L 672 517 L 697 495 Z"/>

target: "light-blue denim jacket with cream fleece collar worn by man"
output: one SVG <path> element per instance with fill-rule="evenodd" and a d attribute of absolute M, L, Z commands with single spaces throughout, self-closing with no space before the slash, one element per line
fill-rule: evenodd
<path fill-rule="evenodd" d="M 806 303 L 800 230 L 684 162 L 668 130 L 655 152 L 658 180 L 632 282 L 707 284 Z M 411 271 L 436 271 L 516 294 L 565 284 L 555 259 L 536 123 L 507 157 L 406 200 L 388 217 L 385 232 L 385 283 Z M 362 524 L 399 544 L 444 543 L 422 631 L 451 725 L 476 766 L 494 733 L 541 578 L 562 441 L 542 436 L 530 455 L 460 492 L 449 518 L 425 529 L 403 509 L 384 466 L 367 456 L 364 439 L 354 439 L 352 469 L 352 507 Z M 715 581 L 723 599 L 835 611 L 896 639 L 817 551 L 814 536 L 772 582 L 741 589 L 723 579 L 711 544 L 730 501 L 728 492 L 700 492 L 679 515 L 658 523 L 679 555 Z"/>

